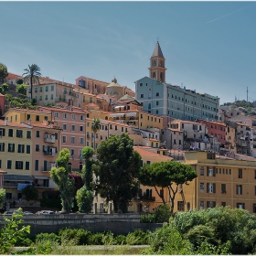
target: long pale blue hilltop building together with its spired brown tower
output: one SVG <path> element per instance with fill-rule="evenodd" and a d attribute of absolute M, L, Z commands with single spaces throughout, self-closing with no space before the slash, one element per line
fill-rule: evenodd
<path fill-rule="evenodd" d="M 136 100 L 144 112 L 187 121 L 219 121 L 219 97 L 165 82 L 165 58 L 158 42 L 150 59 L 149 76 L 135 81 Z"/>

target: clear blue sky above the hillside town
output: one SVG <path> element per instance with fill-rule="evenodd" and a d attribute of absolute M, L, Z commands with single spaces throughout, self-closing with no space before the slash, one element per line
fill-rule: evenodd
<path fill-rule="evenodd" d="M 75 82 L 115 76 L 134 90 L 149 76 L 157 37 L 166 81 L 256 100 L 256 2 L 0 2 L 0 62 Z"/>

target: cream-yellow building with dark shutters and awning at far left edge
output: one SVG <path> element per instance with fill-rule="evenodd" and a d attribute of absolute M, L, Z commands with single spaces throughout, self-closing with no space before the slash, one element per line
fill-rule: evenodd
<path fill-rule="evenodd" d="M 21 198 L 19 187 L 33 182 L 31 135 L 26 124 L 0 120 L 0 169 L 7 172 L 3 183 L 7 200 Z"/>

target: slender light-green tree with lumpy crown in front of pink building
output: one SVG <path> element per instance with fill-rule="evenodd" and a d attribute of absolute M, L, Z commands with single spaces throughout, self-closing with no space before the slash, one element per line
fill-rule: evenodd
<path fill-rule="evenodd" d="M 69 178 L 71 172 L 69 158 L 69 149 L 62 149 L 59 152 L 59 157 L 56 159 L 57 167 L 53 167 L 50 170 L 50 177 L 59 189 L 63 212 L 69 212 L 74 191 L 74 179 Z"/>

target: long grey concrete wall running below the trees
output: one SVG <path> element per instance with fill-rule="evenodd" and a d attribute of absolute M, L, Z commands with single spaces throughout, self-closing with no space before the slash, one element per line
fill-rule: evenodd
<path fill-rule="evenodd" d="M 7 218 L 11 218 L 8 216 Z M 30 225 L 30 236 L 39 233 L 57 233 L 59 229 L 87 229 L 101 232 L 112 231 L 114 234 L 128 234 L 135 229 L 155 230 L 163 224 L 140 223 L 139 214 L 56 214 L 24 216 L 23 225 Z M 0 228 L 3 228 L 3 216 L 0 216 Z"/>

